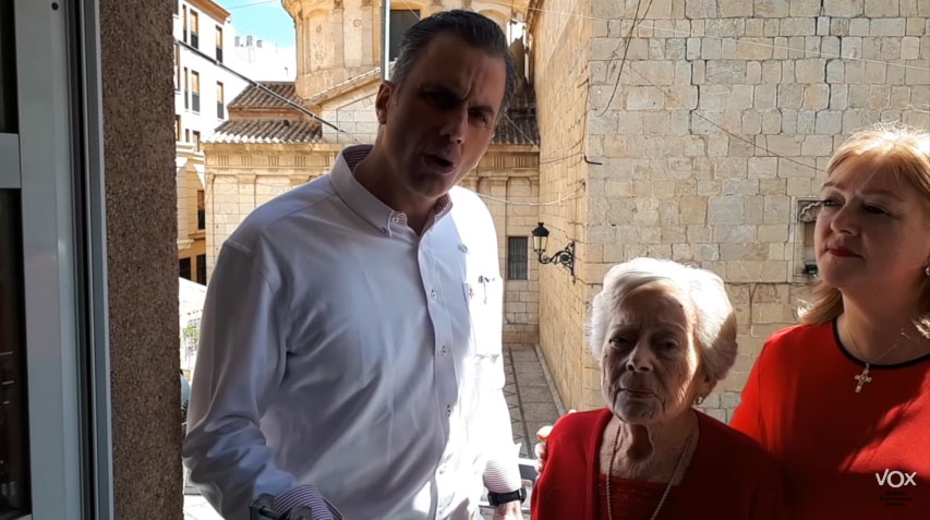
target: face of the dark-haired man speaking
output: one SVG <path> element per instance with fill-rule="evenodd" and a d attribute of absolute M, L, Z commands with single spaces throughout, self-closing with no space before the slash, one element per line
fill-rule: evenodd
<path fill-rule="evenodd" d="M 506 65 L 452 35 L 423 49 L 401 87 L 376 106 L 390 181 L 411 202 L 435 202 L 487 150 L 504 100 Z"/>

